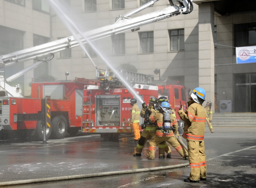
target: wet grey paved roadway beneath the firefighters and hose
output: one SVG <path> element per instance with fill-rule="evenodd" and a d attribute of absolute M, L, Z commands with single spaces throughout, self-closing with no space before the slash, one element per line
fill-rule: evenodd
<path fill-rule="evenodd" d="M 206 127 L 207 181 L 185 183 L 190 167 L 87 179 L 26 184 L 21 188 L 179 188 L 256 187 L 256 128 Z M 172 159 L 146 160 L 133 157 L 136 144 L 131 137 L 104 142 L 99 135 L 39 142 L 0 142 L 1 182 L 79 175 L 187 163 L 172 148 Z M 157 156 L 158 150 L 156 151 Z"/>

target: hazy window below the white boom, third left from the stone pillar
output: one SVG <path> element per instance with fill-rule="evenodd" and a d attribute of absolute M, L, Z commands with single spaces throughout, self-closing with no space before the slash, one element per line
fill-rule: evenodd
<path fill-rule="evenodd" d="M 113 54 L 125 54 L 125 34 L 116 34 L 112 36 Z"/>

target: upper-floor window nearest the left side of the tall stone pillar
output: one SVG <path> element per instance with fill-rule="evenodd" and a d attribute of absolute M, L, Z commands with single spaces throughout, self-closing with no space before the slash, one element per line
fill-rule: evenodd
<path fill-rule="evenodd" d="M 171 51 L 184 50 L 184 29 L 170 30 Z"/>

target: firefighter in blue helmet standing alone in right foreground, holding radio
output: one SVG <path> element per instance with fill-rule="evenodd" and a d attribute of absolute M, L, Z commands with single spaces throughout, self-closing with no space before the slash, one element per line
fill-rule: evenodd
<path fill-rule="evenodd" d="M 205 91 L 196 87 L 190 93 L 188 108 L 184 112 L 178 111 L 181 120 L 185 122 L 183 138 L 187 140 L 189 164 L 191 173 L 185 182 L 198 183 L 206 180 L 206 155 L 204 154 L 204 132 L 206 124 L 206 110 L 202 106 L 205 101 Z"/>

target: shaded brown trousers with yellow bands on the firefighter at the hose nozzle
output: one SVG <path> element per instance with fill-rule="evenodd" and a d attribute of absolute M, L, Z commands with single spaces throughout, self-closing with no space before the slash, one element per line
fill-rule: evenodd
<path fill-rule="evenodd" d="M 136 153 L 140 154 L 142 152 L 144 145 L 146 144 L 146 141 L 148 141 L 150 137 L 154 137 L 154 136 L 155 136 L 155 131 L 149 132 L 149 131 L 143 130 L 141 134 L 141 138 L 139 139 L 137 147 L 135 149 Z M 171 148 L 167 145 L 165 141 L 160 142 L 160 144 L 158 144 L 158 150 L 159 150 L 159 156 L 164 156 L 164 152 L 166 152 L 167 154 L 171 153 Z"/>

